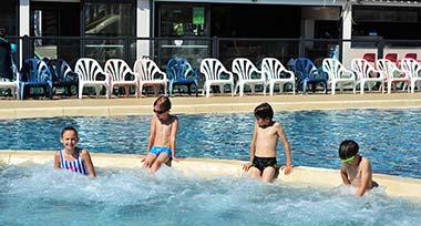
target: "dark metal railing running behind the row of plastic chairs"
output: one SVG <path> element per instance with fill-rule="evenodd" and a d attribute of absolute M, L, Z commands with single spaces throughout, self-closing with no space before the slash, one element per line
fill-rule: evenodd
<path fill-rule="evenodd" d="M 235 58 L 248 58 L 256 64 L 266 56 L 279 59 L 291 65 L 291 59 L 306 56 L 321 63 L 324 58 L 336 56 L 345 62 L 362 58 L 366 52 L 382 58 L 397 52 L 419 52 L 421 40 L 383 40 L 381 38 L 343 39 L 247 39 L 247 38 L 136 38 L 136 37 L 10 37 L 18 44 L 20 54 L 16 62 L 28 58 L 61 58 L 71 65 L 79 58 L 89 56 L 104 63 L 107 59 L 120 58 L 132 64 L 138 58 L 153 59 L 165 68 L 170 58 L 187 58 L 198 69 L 204 58 L 217 58 L 230 68 Z M 20 63 L 18 63 L 20 65 Z"/>

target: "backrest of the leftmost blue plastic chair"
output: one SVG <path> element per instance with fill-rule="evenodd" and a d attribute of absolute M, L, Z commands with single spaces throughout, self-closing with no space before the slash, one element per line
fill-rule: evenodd
<path fill-rule="evenodd" d="M 31 58 L 27 59 L 21 69 L 21 79 L 22 82 L 51 82 L 52 74 L 43 60 Z"/>

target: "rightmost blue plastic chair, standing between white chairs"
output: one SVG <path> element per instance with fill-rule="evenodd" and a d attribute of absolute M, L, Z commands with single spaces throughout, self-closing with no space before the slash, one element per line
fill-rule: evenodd
<path fill-rule="evenodd" d="M 298 76 L 298 86 L 302 85 L 302 93 L 306 94 L 307 84 L 311 84 L 311 90 L 315 93 L 318 83 L 325 85 L 326 93 L 328 93 L 328 75 L 321 69 L 307 58 L 298 58 L 294 61 L 294 72 Z M 298 90 L 298 88 L 297 88 Z"/>

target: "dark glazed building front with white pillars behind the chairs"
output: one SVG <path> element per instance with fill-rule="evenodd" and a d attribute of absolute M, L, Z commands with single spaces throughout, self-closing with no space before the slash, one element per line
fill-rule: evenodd
<path fill-rule="evenodd" d="M 418 52 L 421 3 L 399 0 L 6 0 L 0 27 L 20 58 L 183 55 L 284 63 L 298 55 Z M 24 38 L 27 37 L 27 38 Z M 340 50 L 340 51 L 339 51 Z M 338 52 L 339 51 L 339 52 Z M 421 51 L 420 51 L 421 53 Z"/>

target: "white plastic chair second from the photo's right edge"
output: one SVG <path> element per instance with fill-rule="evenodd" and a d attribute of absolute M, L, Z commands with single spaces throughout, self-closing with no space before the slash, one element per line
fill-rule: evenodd
<path fill-rule="evenodd" d="M 379 71 L 382 71 L 386 75 L 386 82 L 388 83 L 388 93 L 390 94 L 392 85 L 394 89 L 398 82 L 409 83 L 409 75 L 404 71 L 398 69 L 397 64 L 387 59 L 377 60 L 377 66 Z M 408 89 L 409 92 L 409 89 Z"/>

